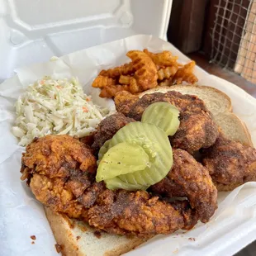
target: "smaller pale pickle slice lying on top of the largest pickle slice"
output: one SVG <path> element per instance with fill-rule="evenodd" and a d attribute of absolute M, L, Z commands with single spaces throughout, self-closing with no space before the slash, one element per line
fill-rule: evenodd
<path fill-rule="evenodd" d="M 96 181 L 144 170 L 148 164 L 149 156 L 140 145 L 121 142 L 104 154 L 97 168 Z"/>

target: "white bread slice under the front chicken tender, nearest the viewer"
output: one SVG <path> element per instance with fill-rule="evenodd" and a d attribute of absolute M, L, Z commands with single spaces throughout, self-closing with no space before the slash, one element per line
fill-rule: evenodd
<path fill-rule="evenodd" d="M 124 235 L 109 235 L 100 231 L 100 238 L 89 225 L 70 220 L 45 207 L 45 214 L 50 223 L 55 240 L 65 256 L 117 256 L 126 254 L 147 239 L 127 238 Z"/>

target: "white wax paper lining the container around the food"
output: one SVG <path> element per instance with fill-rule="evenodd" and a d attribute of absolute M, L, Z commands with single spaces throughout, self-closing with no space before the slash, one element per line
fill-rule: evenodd
<path fill-rule="evenodd" d="M 101 69 L 128 62 L 128 50 L 171 50 L 181 62 L 189 59 L 173 45 L 153 36 L 131 36 L 105 45 L 80 50 L 47 63 L 17 69 L 13 78 L 0 85 L 0 255 L 57 255 L 55 238 L 40 202 L 21 182 L 21 153 L 11 127 L 14 102 L 26 87 L 45 75 L 53 78 L 78 77 L 84 92 L 94 102 L 114 111 L 111 100 L 97 97 L 92 79 Z M 232 100 L 234 112 L 249 128 L 256 145 L 256 99 L 235 84 L 196 68 L 199 84 L 215 87 Z M 232 255 L 256 239 L 256 183 L 247 183 L 233 192 L 220 192 L 219 208 L 211 221 L 173 235 L 158 235 L 127 255 Z M 36 235 L 35 244 L 31 235 Z M 99 240 L 100 242 L 100 240 Z"/>

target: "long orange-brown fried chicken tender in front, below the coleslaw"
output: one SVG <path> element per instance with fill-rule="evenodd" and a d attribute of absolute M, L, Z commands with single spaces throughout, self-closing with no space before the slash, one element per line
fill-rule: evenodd
<path fill-rule="evenodd" d="M 21 162 L 21 179 L 28 179 L 37 200 L 97 229 L 143 237 L 190 229 L 197 223 L 186 201 L 170 204 L 148 192 L 111 191 L 103 182 L 95 183 L 96 159 L 69 135 L 34 140 Z"/>

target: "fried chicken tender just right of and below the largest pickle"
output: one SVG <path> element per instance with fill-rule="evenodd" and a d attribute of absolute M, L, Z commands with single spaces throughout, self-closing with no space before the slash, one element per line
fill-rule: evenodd
<path fill-rule="evenodd" d="M 217 208 L 217 190 L 208 170 L 183 149 L 173 149 L 173 167 L 151 191 L 164 197 L 187 197 L 199 220 L 207 222 Z"/>

